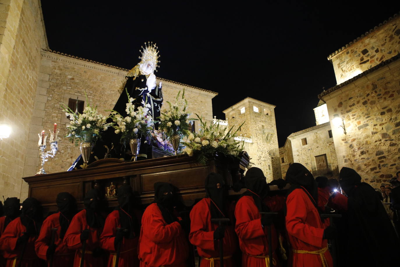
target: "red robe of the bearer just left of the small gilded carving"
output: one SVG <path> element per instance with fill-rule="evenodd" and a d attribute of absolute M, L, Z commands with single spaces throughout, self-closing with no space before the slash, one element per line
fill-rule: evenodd
<path fill-rule="evenodd" d="M 80 265 L 80 259 L 82 255 L 82 243 L 80 241 L 81 231 L 84 229 L 89 229 L 89 239 L 86 240 L 86 251 L 84 255 L 84 267 L 101 267 L 106 266 L 106 261 L 108 259 L 108 254 L 103 257 L 93 257 L 92 251 L 96 247 L 100 247 L 100 234 L 102 228 L 92 228 L 89 227 L 86 222 L 86 209 L 78 212 L 70 223 L 67 232 L 64 236 L 64 241 L 69 249 L 76 249 L 74 267 Z"/>

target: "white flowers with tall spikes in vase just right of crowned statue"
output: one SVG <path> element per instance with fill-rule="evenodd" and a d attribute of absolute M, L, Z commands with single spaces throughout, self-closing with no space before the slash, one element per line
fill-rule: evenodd
<path fill-rule="evenodd" d="M 190 117 L 190 112 L 188 112 L 188 101 L 184 97 L 185 89 L 183 89 L 182 97 L 180 96 L 180 91 L 176 95 L 175 103 L 172 104 L 168 102 L 168 108 L 166 112 L 161 113 L 158 117 L 160 119 L 159 128 L 162 129 L 168 137 L 174 134 L 181 135 L 187 134 L 189 129 L 189 122 L 196 120 Z"/>

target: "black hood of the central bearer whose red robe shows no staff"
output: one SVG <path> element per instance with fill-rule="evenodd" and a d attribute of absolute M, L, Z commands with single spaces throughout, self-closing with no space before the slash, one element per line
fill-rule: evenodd
<path fill-rule="evenodd" d="M 170 183 L 154 183 L 154 202 L 157 203 L 162 217 L 167 224 L 178 221 L 174 215 L 174 206 L 176 206 L 175 188 Z"/>

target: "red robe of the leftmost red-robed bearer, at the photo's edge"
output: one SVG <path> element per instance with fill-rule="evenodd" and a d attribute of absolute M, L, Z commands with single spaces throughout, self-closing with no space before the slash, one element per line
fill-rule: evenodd
<path fill-rule="evenodd" d="M 6 267 L 18 266 L 23 245 L 20 244 L 17 247 L 16 244 L 18 237 L 21 237 L 24 232 L 26 232 L 26 227 L 19 217 L 11 221 L 4 230 L 0 238 L 0 250 L 3 251 L 3 256 L 6 259 Z M 38 258 L 35 252 L 36 238 L 37 236 L 31 236 L 26 243 L 22 267 L 39 267 L 43 265 L 43 261 Z"/>

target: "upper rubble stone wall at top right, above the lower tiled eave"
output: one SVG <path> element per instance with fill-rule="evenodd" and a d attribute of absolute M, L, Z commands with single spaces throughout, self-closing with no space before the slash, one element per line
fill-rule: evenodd
<path fill-rule="evenodd" d="M 399 47 L 400 16 L 394 16 L 366 36 L 361 36 L 328 56 L 333 64 L 337 84 L 396 56 Z"/>

